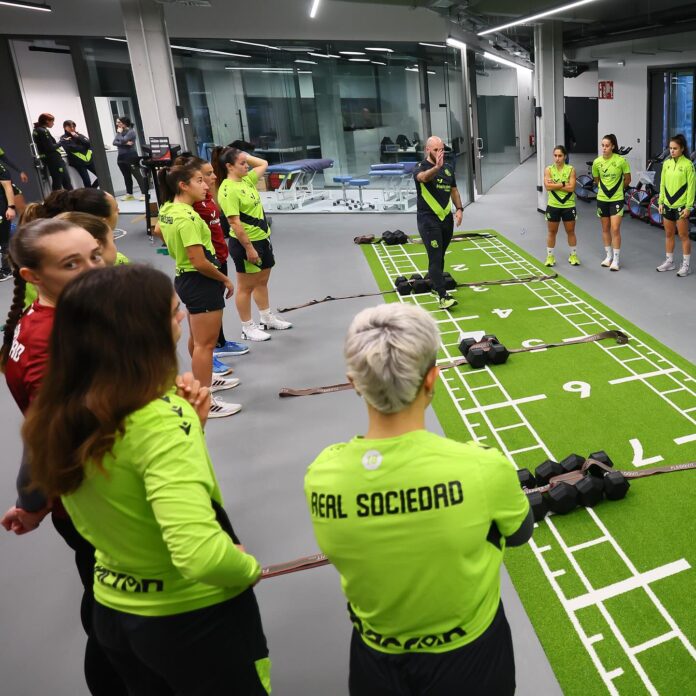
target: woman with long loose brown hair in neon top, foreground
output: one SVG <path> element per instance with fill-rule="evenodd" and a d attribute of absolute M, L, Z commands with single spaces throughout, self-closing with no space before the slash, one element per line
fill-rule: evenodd
<path fill-rule="evenodd" d="M 267 696 L 261 568 L 222 507 L 208 390 L 176 376 L 183 318 L 146 266 L 65 288 L 23 428 L 32 480 L 96 549 L 94 631 L 130 696 Z"/>

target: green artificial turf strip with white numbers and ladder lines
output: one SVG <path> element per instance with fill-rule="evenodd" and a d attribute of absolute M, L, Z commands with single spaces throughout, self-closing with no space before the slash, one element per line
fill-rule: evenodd
<path fill-rule="evenodd" d="M 489 248 L 485 250 L 482 247 Z M 427 256 L 422 245 L 363 247 L 363 251 L 381 290 L 392 288 L 385 267 L 388 273 L 407 277 L 414 272 L 424 274 L 427 270 Z M 541 266 L 538 260 L 501 236 L 497 240 L 479 238 L 458 242 L 450 247 L 450 252 L 446 267 L 457 282 L 502 279 L 513 274 L 522 276 L 549 273 L 549 269 Z M 506 261 L 507 265 L 495 265 L 498 260 Z M 567 274 L 582 272 L 582 268 L 559 270 Z M 615 279 L 612 278 L 612 281 L 615 282 Z M 520 404 L 519 410 L 557 460 L 572 452 L 587 456 L 591 451 L 605 449 L 617 468 L 632 469 L 633 439 L 640 441 L 644 458 L 656 455 L 662 457 L 662 461 L 654 465 L 677 464 L 696 459 L 696 442 L 682 445 L 674 442 L 674 438 L 696 433 L 696 424 L 688 415 L 679 413 L 653 391 L 678 388 L 679 385 L 671 376 L 648 378 L 653 390 L 639 380 L 609 384 L 611 380 L 630 376 L 630 372 L 612 356 L 637 358 L 627 365 L 638 373 L 666 368 L 671 363 L 686 373 L 686 377 L 679 374 L 678 379 L 680 382 L 684 381 L 690 389 L 695 386 L 694 366 L 566 278 L 559 277 L 548 283 L 489 287 L 481 291 L 462 288 L 457 291 L 456 297 L 459 305 L 450 310 L 450 313 L 440 311 L 432 295 L 403 298 L 404 301 L 421 304 L 433 312 L 433 316 L 440 322 L 443 342 L 448 344 L 447 353 L 443 350 L 438 356 L 441 359 L 459 356 L 456 344 L 462 331 L 496 334 L 509 348 L 518 347 L 522 341 L 532 338 L 544 343 L 557 342 L 583 333 L 596 333 L 617 327 L 626 331 L 633 340 L 628 346 L 620 348 L 613 348 L 616 344 L 611 340 L 603 342 L 603 346 L 612 347 L 611 355 L 602 350 L 599 344 L 512 355 L 505 365 L 492 368 L 502 389 L 485 370 L 475 373 L 468 367 L 460 367 L 443 372 L 443 379 L 447 380 L 453 391 L 450 394 L 444 384 L 439 385 L 434 407 L 449 437 L 460 441 L 476 437 L 484 444 L 499 447 L 495 431 L 520 423 L 519 415 L 511 407 L 483 413 L 472 411 L 463 415 L 455 407 L 453 395 L 457 399 L 463 399 L 461 408 L 464 410 L 474 408 L 472 394 L 478 405 L 483 406 L 506 401 L 505 394 L 511 399 L 543 396 L 544 398 Z M 558 310 L 530 311 L 530 307 L 543 306 L 544 298 L 553 304 L 580 304 L 558 307 Z M 400 301 L 401 298 L 394 293 L 386 295 L 385 299 Z M 575 328 L 563 318 L 566 314 L 580 311 L 584 312 L 583 316 L 569 317 L 569 320 L 573 323 L 587 322 L 585 326 Z M 449 321 L 450 315 L 453 321 Z M 477 318 L 471 318 L 474 316 Z M 593 320 L 598 323 L 591 323 Z M 638 342 L 645 345 L 639 346 Z M 635 350 L 639 352 L 636 353 Z M 656 365 L 651 364 L 648 358 Z M 577 391 L 580 385 L 571 385 L 573 382 L 589 384 L 589 397 L 581 398 Z M 476 387 L 476 390 L 468 392 L 466 385 Z M 668 398 L 677 408 L 696 408 L 696 397 L 687 391 L 675 392 Z M 696 415 L 696 411 L 691 415 Z M 537 444 L 534 433 L 524 423 L 522 425 L 523 427 L 509 428 L 499 433 L 508 452 Z M 545 458 L 546 454 L 542 449 L 520 452 L 512 457 L 518 467 L 526 466 L 532 471 Z M 693 539 L 696 538 L 696 516 L 691 503 L 695 478 L 696 472 L 684 472 L 634 481 L 624 500 L 616 503 L 604 501 L 595 508 L 594 513 L 637 572 L 650 571 L 682 558 L 692 567 L 696 565 L 693 544 Z M 583 510 L 566 517 L 554 516 L 552 524 L 566 546 L 585 543 L 603 535 L 590 513 Z M 587 590 L 582 579 L 546 522 L 536 529 L 534 543 L 539 548 L 551 547 L 542 554 L 549 572 L 565 571 L 555 578 L 563 596 L 572 599 L 585 594 Z M 633 575 L 614 546 L 606 541 L 576 552 L 574 558 L 593 589 Z M 531 548 L 508 550 L 506 566 L 564 693 L 606 693 L 607 687 L 592 663 L 587 648 L 580 641 Z M 696 573 L 692 569 L 679 572 L 651 583 L 650 588 L 691 644 L 696 643 L 696 612 L 688 610 L 688 607 L 693 606 L 691 597 L 696 591 Z M 643 593 L 645 602 L 632 599 L 638 597 L 638 593 Z M 610 614 L 615 615 L 617 625 L 626 632 L 629 646 L 665 632 L 665 620 L 644 590 L 634 590 L 625 595 L 625 598 L 623 601 L 622 595 L 614 597 L 607 600 L 606 606 L 611 607 Z M 590 630 L 586 635 L 601 633 L 603 636 L 603 640 L 594 643 L 592 649 L 600 656 L 607 672 L 617 668 L 624 670 L 621 676 L 612 681 L 614 687 L 620 694 L 633 696 L 647 693 L 640 676 L 598 608 L 591 606 L 582 609 L 576 617 L 588 616 L 590 610 L 597 614 L 602 626 L 599 630 Z M 583 621 L 580 623 L 583 624 Z M 588 629 L 583 625 L 583 630 Z M 678 671 L 669 667 L 669 660 L 665 655 L 672 649 L 679 665 L 682 664 L 684 655 L 687 661 L 691 660 L 693 663 L 691 655 L 676 640 L 659 647 L 663 656 L 661 660 L 655 661 L 653 665 L 651 655 L 657 648 L 650 648 L 640 653 L 640 662 L 653 665 L 650 670 L 646 667 L 646 671 L 654 684 L 659 682 L 660 694 L 681 695 L 684 693 L 683 682 Z M 655 671 L 659 675 L 654 676 Z"/>

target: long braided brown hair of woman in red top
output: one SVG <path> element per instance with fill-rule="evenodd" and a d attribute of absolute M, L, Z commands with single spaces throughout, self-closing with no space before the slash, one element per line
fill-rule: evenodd
<path fill-rule="evenodd" d="M 10 262 L 14 277 L 14 292 L 12 304 L 5 320 L 2 348 L 0 348 L 0 371 L 5 371 L 5 365 L 12 348 L 15 329 L 24 313 L 24 296 L 27 282 L 19 271 L 21 268 L 38 270 L 43 262 L 41 239 L 58 232 L 66 232 L 75 227 L 75 223 L 67 220 L 39 219 L 27 225 L 21 225 L 10 240 Z"/>

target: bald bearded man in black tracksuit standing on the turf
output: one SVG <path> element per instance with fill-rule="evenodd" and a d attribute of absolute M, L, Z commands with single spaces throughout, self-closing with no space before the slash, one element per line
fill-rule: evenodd
<path fill-rule="evenodd" d="M 416 167 L 418 233 L 428 251 L 428 272 L 440 298 L 440 309 L 449 309 L 457 300 L 445 290 L 445 252 L 452 241 L 454 223 L 462 224 L 462 199 L 457 191 L 454 170 L 445 164 L 445 144 L 431 135 L 425 143 L 425 159 Z M 452 203 L 456 208 L 452 217 Z"/>

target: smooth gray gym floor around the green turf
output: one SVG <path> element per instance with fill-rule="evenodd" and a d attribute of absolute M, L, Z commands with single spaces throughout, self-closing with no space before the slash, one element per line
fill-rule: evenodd
<path fill-rule="evenodd" d="M 578 167 L 580 172 L 584 167 Z M 535 163 L 528 161 L 469 206 L 464 228 L 492 227 L 528 251 L 543 256 L 544 221 L 536 212 Z M 580 268 L 570 268 L 561 253 L 559 272 L 691 360 L 693 318 L 689 297 L 696 277 L 677 279 L 654 271 L 663 253 L 662 233 L 633 220 L 624 224 L 624 268 L 609 273 L 599 266 L 602 246 L 590 205 L 578 204 Z M 131 225 L 119 247 L 133 260 L 167 271 L 171 261 L 156 255 Z M 415 232 L 412 215 L 275 216 L 274 246 L 279 260 L 272 280 L 274 305 L 294 304 L 326 294 L 350 294 L 374 288 L 372 275 L 352 237 L 401 228 Z M 7 307 L 10 283 L 0 285 L 0 307 Z M 462 301 L 475 302 L 472 294 Z M 341 344 L 352 316 L 373 301 L 333 302 L 299 310 L 288 318 L 293 330 L 274 334 L 252 352 L 233 361 L 242 385 L 229 398 L 244 410 L 213 421 L 208 444 L 235 527 L 262 563 L 279 562 L 315 550 L 303 494 L 307 464 L 327 444 L 344 440 L 365 425 L 362 404 L 352 393 L 295 400 L 277 398 L 281 386 L 310 386 L 342 381 Z M 233 311 L 225 325 L 231 338 L 239 324 Z M 182 344 L 183 345 L 183 344 Z M 182 354 L 182 365 L 188 364 Z M 0 489 L 13 501 L 19 457 L 20 416 L 6 389 L 0 390 L 4 461 Z M 439 430 L 431 416 L 430 426 Z M 69 552 L 50 523 L 25 537 L 0 535 L 0 674 L 2 693 L 81 696 L 84 636 L 78 619 L 79 583 Z M 507 576 L 506 611 L 513 628 L 518 693 L 552 696 L 560 689 Z M 274 664 L 274 693 L 279 696 L 346 694 L 350 624 L 338 577 L 331 568 L 298 573 L 261 583 L 258 595 Z"/>

